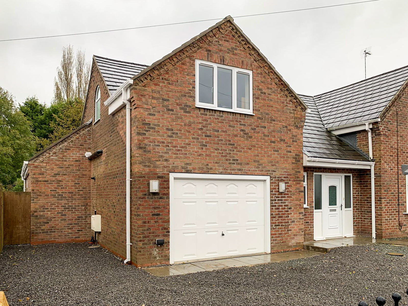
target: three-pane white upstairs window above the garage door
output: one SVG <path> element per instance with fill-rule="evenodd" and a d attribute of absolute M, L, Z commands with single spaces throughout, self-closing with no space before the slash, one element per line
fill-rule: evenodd
<path fill-rule="evenodd" d="M 195 106 L 253 113 L 252 71 L 195 61 Z"/>

